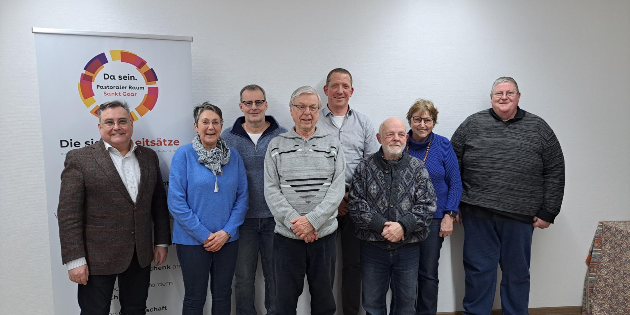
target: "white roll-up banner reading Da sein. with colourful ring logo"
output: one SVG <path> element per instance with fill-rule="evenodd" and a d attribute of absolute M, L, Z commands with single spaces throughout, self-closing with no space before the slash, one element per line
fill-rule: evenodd
<path fill-rule="evenodd" d="M 194 135 L 192 37 L 33 28 L 42 112 L 54 314 L 79 314 L 77 284 L 62 265 L 57 226 L 60 175 L 72 149 L 100 140 L 98 105 L 123 100 L 134 120 L 133 141 L 157 152 L 168 190 L 169 165 Z M 151 265 L 147 313 L 181 312 L 183 284 L 175 247 Z M 118 284 L 111 315 L 120 314 Z"/>

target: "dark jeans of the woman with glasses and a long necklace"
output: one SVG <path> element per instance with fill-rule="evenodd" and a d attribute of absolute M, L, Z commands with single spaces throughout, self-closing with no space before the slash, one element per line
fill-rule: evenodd
<path fill-rule="evenodd" d="M 429 235 L 420 242 L 420 265 L 418 266 L 418 299 L 416 315 L 437 313 L 437 290 L 440 280 L 437 276 L 440 249 L 444 238 L 440 238 L 442 219 L 433 218 L 429 225 Z"/>

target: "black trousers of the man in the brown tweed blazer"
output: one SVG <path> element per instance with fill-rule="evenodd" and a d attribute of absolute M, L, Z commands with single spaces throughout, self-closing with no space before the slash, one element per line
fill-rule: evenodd
<path fill-rule="evenodd" d="M 88 284 L 79 284 L 79 289 L 77 290 L 81 315 L 110 314 L 110 304 L 112 304 L 112 293 L 116 278 L 118 278 L 120 312 L 125 315 L 146 314 L 150 276 L 151 266 L 141 268 L 135 252 L 129 268 L 122 273 L 115 275 L 89 275 Z"/>

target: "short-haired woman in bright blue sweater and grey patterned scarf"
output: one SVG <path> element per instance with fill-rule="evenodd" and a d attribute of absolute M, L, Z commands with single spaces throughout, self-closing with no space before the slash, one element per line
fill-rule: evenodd
<path fill-rule="evenodd" d="M 219 136 L 221 110 L 206 102 L 193 116 L 197 135 L 175 152 L 168 189 L 184 280 L 182 314 L 202 314 L 210 277 L 212 314 L 229 315 L 238 227 L 249 204 L 247 175 L 238 151 Z"/>

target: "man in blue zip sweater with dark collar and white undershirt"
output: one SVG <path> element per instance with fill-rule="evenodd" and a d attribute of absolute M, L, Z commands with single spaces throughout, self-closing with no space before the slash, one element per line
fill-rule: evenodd
<path fill-rule="evenodd" d="M 287 132 L 272 116 L 265 116 L 265 90 L 256 84 L 241 89 L 239 108 L 242 117 L 221 135 L 227 145 L 243 157 L 249 186 L 249 210 L 239 227 L 239 251 L 236 261 L 236 314 L 256 315 L 254 282 L 258 266 L 258 252 L 265 277 L 266 314 L 275 312 L 275 275 L 273 272 L 273 230 L 275 221 L 265 202 L 264 169 L 267 145 L 278 134 Z"/>

